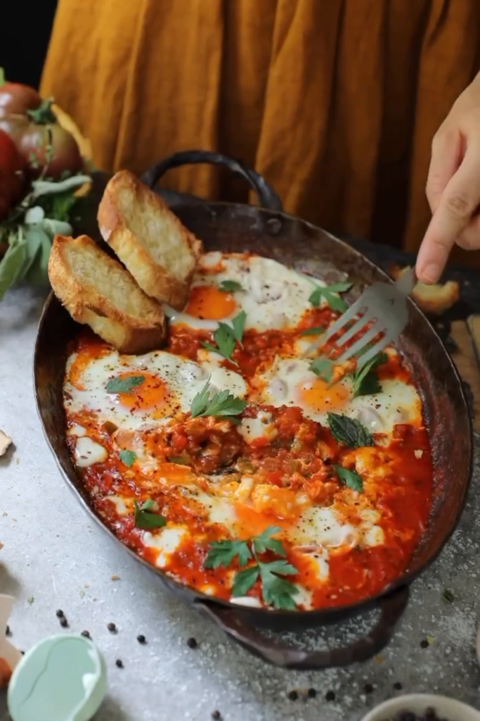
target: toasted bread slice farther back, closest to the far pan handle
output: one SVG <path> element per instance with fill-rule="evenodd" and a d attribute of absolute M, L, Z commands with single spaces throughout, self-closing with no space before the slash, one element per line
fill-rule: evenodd
<path fill-rule="evenodd" d="M 135 175 L 120 170 L 105 188 L 97 218 L 104 240 L 140 288 L 183 309 L 203 248 L 164 200 Z"/>

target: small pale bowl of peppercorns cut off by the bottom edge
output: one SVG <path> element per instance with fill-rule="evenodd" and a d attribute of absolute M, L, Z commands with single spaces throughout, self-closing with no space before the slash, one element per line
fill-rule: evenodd
<path fill-rule="evenodd" d="M 447 696 L 409 694 L 376 706 L 362 721 L 480 721 L 480 711 Z"/>

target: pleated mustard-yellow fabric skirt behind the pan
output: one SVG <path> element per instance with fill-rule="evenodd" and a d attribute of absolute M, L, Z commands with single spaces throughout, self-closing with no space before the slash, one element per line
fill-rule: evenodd
<path fill-rule="evenodd" d="M 479 0 L 60 0 L 41 89 L 101 169 L 218 149 L 287 211 L 415 250 L 430 143 L 479 38 Z M 205 166 L 164 182 L 248 200 Z"/>

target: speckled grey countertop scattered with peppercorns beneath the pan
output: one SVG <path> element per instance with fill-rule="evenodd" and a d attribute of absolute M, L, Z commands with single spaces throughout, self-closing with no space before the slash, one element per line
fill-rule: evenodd
<path fill-rule="evenodd" d="M 0 592 L 16 599 L 11 640 L 20 649 L 61 630 L 56 609 L 64 611 L 71 630 L 91 633 L 109 673 L 96 721 L 208 721 L 216 709 L 225 721 L 359 721 L 384 699 L 413 691 L 480 707 L 478 443 L 460 526 L 414 584 L 389 647 L 342 670 L 281 671 L 248 655 L 163 590 L 81 510 L 60 477 L 35 410 L 32 350 L 41 306 L 42 298 L 27 289 L 11 291 L 0 304 L 0 428 L 14 439 L 0 459 Z M 453 603 L 443 600 L 444 588 L 453 590 Z M 109 632 L 109 622 L 117 634 Z M 357 617 L 341 629 L 307 632 L 302 640 L 310 647 L 351 640 L 371 622 L 371 616 Z M 137 634 L 145 635 L 145 645 Z M 189 637 L 198 647 L 187 646 Z M 124 668 L 117 668 L 117 659 Z M 307 697 L 307 689 L 316 696 Z M 289 699 L 293 690 L 296 700 Z M 335 700 L 325 700 L 328 691 Z M 0 692 L 0 721 L 7 719 Z"/>

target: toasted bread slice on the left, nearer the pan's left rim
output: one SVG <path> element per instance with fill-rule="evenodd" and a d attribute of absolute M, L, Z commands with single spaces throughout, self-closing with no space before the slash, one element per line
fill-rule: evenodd
<path fill-rule="evenodd" d="M 71 317 L 120 352 L 160 347 L 166 329 L 163 310 L 89 236 L 55 236 L 48 277 Z"/>

